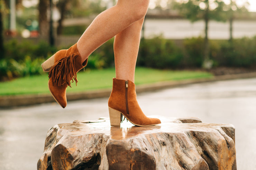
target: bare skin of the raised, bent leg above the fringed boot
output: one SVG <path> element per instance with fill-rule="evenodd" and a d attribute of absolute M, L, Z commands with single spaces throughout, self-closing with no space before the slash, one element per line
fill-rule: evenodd
<path fill-rule="evenodd" d="M 115 6 L 100 13 L 77 42 L 82 60 L 132 23 L 144 18 L 148 4 L 149 0 L 118 0 Z"/>

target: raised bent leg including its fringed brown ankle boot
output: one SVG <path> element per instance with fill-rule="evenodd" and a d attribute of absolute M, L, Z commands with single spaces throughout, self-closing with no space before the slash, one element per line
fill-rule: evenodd
<path fill-rule="evenodd" d="M 93 20 L 75 45 L 57 51 L 42 64 L 43 70 L 49 72 L 49 90 L 63 108 L 67 103 L 67 85 L 70 86 L 71 81 L 77 83 L 76 73 L 86 66 L 88 56 L 132 23 L 144 18 L 148 3 L 149 0 L 118 0 L 114 7 Z"/>

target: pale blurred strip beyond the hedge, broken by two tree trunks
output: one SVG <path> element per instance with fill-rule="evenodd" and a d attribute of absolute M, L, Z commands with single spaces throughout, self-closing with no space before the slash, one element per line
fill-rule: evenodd
<path fill-rule="evenodd" d="M 204 22 L 202 20 L 191 23 L 185 19 L 146 19 L 145 38 L 162 35 L 167 39 L 184 39 L 204 37 Z M 229 39 L 229 23 L 209 21 L 209 39 Z M 233 37 L 256 36 L 255 20 L 235 20 L 233 23 Z"/>

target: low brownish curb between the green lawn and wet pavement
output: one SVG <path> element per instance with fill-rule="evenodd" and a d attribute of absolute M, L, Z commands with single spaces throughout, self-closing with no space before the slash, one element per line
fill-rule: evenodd
<path fill-rule="evenodd" d="M 195 84 L 195 83 L 214 82 L 214 81 L 223 81 L 223 80 L 231 80 L 231 79 L 241 79 L 241 78 L 253 78 L 253 77 L 256 77 L 256 72 L 214 76 L 212 78 L 158 82 L 153 84 L 138 85 L 136 86 L 136 93 L 156 91 L 159 89 L 173 88 L 177 86 Z M 109 97 L 110 93 L 111 93 L 111 88 L 82 92 L 82 93 L 68 93 L 67 100 L 74 101 L 74 100 L 85 100 L 85 99 L 92 99 L 92 98 Z M 2 97 L 0 96 L 0 108 L 27 106 L 27 105 L 34 105 L 34 104 L 50 103 L 50 102 L 55 102 L 51 94 L 18 95 L 18 96 L 2 96 Z"/>

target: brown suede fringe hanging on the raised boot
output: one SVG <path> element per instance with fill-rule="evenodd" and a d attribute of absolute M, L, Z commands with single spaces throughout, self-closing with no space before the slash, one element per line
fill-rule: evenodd
<path fill-rule="evenodd" d="M 78 81 L 76 78 L 75 68 L 75 58 L 77 56 L 77 54 L 72 54 L 70 56 L 63 57 L 53 65 L 48 75 L 49 79 L 52 78 L 53 85 L 56 84 L 57 86 L 62 86 L 67 84 L 67 86 L 71 87 L 71 83 L 74 81 L 77 85 Z"/>

